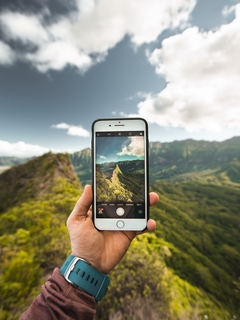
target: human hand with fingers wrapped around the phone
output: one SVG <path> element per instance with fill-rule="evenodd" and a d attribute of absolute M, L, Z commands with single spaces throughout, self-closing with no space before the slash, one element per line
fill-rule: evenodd
<path fill-rule="evenodd" d="M 151 192 L 150 206 L 156 204 L 159 197 Z M 102 273 L 110 272 L 122 259 L 131 241 L 143 232 L 136 231 L 98 231 L 92 221 L 92 187 L 86 185 L 67 220 L 72 254 L 88 261 Z M 156 228 L 154 220 L 148 220 L 147 229 Z"/>

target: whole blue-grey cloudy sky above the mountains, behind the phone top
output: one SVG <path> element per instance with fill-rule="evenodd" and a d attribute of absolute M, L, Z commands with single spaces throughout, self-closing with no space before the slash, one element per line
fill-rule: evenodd
<path fill-rule="evenodd" d="M 0 0 L 0 156 L 83 150 L 98 118 L 240 136 L 239 52 L 237 0 Z"/>

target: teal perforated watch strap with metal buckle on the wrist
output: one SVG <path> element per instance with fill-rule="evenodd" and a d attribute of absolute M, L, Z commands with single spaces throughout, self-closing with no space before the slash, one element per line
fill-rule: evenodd
<path fill-rule="evenodd" d="M 61 274 L 71 284 L 101 301 L 107 292 L 110 279 L 93 268 L 86 260 L 69 255 L 60 268 Z"/>

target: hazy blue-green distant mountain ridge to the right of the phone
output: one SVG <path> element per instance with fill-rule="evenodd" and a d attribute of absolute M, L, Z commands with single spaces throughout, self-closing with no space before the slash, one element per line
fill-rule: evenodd
<path fill-rule="evenodd" d="M 240 161 L 240 137 L 223 142 L 194 140 L 151 142 L 150 181 L 166 180 L 204 170 L 221 171 L 221 168 L 226 168 L 226 164 L 234 158 Z"/>

